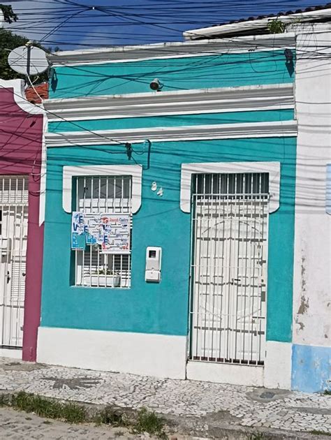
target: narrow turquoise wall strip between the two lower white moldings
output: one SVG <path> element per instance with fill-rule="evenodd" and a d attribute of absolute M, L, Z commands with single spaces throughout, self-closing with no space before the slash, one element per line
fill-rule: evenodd
<path fill-rule="evenodd" d="M 49 122 L 48 131 L 84 131 L 141 129 L 145 127 L 196 126 L 209 124 L 238 124 L 244 122 L 290 121 L 294 110 L 263 110 L 257 112 L 205 113 L 204 115 L 174 115 L 94 119 L 90 121 Z"/>

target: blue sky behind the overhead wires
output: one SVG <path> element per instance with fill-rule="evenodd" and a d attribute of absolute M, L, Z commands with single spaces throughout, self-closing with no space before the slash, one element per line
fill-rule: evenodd
<path fill-rule="evenodd" d="M 325 1 L 327 3 L 328 1 Z M 238 18 L 325 4 L 321 0 L 25 0 L 11 31 L 61 50 L 182 41 L 182 32 Z"/>

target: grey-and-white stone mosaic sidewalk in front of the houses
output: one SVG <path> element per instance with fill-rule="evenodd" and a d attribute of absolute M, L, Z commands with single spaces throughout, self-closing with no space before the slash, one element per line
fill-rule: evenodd
<path fill-rule="evenodd" d="M 0 358 L 0 391 L 21 390 L 128 410 L 145 406 L 165 416 L 167 422 L 171 420 L 178 429 L 206 437 L 217 438 L 217 432 L 226 429 L 284 435 L 268 438 L 312 439 L 317 432 L 331 434 L 330 395 L 157 379 Z"/>

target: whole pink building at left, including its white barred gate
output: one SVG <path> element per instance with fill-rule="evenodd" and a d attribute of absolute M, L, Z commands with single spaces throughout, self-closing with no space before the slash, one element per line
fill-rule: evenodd
<path fill-rule="evenodd" d="M 0 355 L 36 360 L 43 226 L 43 108 L 0 80 Z"/>

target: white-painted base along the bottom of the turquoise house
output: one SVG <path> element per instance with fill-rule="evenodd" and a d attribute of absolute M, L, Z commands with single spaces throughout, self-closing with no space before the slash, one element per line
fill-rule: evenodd
<path fill-rule="evenodd" d="M 292 344 L 266 343 L 264 367 L 189 361 L 184 336 L 40 327 L 37 361 L 170 379 L 290 390 Z M 0 351 L 22 358 L 20 350 Z"/>

